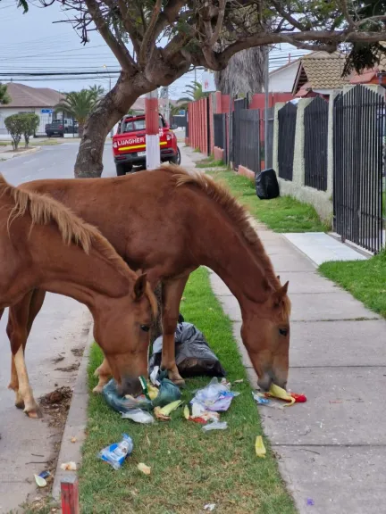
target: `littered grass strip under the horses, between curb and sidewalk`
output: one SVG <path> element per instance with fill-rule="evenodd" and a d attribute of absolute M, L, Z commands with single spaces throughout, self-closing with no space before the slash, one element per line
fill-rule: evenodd
<path fill-rule="evenodd" d="M 90 394 L 88 437 L 80 469 L 81 511 L 195 514 L 206 503 L 216 503 L 216 512 L 222 514 L 295 514 L 266 440 L 267 458 L 256 457 L 260 419 L 231 321 L 210 288 L 206 269 L 198 269 L 189 279 L 182 313 L 204 332 L 228 378 L 244 378 L 234 386 L 241 394 L 222 414 L 229 428 L 205 434 L 200 425 L 183 419 L 182 409 L 172 414 L 172 421 L 140 426 L 121 419 L 101 396 Z M 102 354 L 94 345 L 88 369 L 90 389 L 96 385 L 93 372 L 101 361 Z M 208 377 L 189 379 L 183 399 L 188 402 L 193 391 L 208 382 Z M 134 452 L 121 470 L 114 471 L 97 460 L 96 454 L 119 441 L 122 432 L 133 438 Z M 149 477 L 138 471 L 138 462 L 151 466 Z"/>

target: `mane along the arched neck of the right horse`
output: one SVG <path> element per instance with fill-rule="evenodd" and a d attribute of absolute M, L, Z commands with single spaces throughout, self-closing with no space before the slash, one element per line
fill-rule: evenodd
<path fill-rule="evenodd" d="M 172 171 L 177 187 L 195 185 L 204 191 L 204 193 L 214 200 L 215 203 L 218 203 L 222 207 L 234 225 L 239 228 L 240 234 L 244 237 L 252 252 L 259 259 L 271 286 L 273 286 L 273 289 L 277 291 L 281 287 L 281 282 L 274 273 L 272 262 L 267 253 L 265 253 L 260 237 L 257 236 L 255 228 L 251 225 L 250 214 L 247 209 L 238 203 L 227 187 L 214 182 L 213 178 L 208 177 L 204 173 L 189 173 L 187 170 L 183 170 L 177 166 L 168 166 L 167 168 L 163 168 L 163 170 L 167 169 Z M 283 300 L 284 315 L 290 316 L 290 299 L 285 295 Z"/>

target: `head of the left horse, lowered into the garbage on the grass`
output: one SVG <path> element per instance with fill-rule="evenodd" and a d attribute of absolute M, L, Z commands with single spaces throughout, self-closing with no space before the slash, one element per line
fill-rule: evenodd
<path fill-rule="evenodd" d="M 130 294 L 109 299 L 94 315 L 94 336 L 105 353 L 122 394 L 138 394 L 138 377 L 147 377 L 150 327 L 156 314 L 155 295 L 146 275 L 137 278 Z"/>

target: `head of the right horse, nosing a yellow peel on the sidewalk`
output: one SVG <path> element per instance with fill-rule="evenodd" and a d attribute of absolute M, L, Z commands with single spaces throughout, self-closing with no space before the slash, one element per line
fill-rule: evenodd
<path fill-rule="evenodd" d="M 267 300 L 242 309 L 241 337 L 256 370 L 257 384 L 267 391 L 271 384 L 287 385 L 290 351 L 289 283 L 268 294 Z"/>

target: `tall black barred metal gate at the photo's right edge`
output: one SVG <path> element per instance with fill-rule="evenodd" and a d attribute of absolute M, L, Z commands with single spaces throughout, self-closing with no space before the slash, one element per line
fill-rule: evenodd
<path fill-rule="evenodd" d="M 382 247 L 385 103 L 356 86 L 334 104 L 334 230 L 373 253 Z"/>

